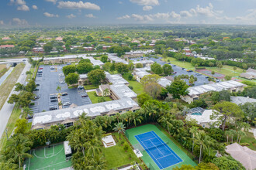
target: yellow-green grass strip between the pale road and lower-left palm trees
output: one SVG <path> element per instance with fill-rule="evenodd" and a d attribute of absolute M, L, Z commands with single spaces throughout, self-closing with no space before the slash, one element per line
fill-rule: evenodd
<path fill-rule="evenodd" d="M 5 129 L 7 129 L 8 136 L 10 136 L 12 134 L 12 131 L 15 128 L 16 121 L 19 119 L 20 114 L 21 114 L 21 109 L 19 108 L 19 104 L 15 104 L 15 106 L 12 110 L 12 114 L 11 114 L 11 116 L 9 118 L 9 121 L 8 121 L 8 123 L 6 125 L 6 128 L 5 128 Z M 6 140 L 6 134 L 3 133 L 2 138 L 0 140 L 0 151 L 5 146 L 6 141 L 7 141 Z"/>

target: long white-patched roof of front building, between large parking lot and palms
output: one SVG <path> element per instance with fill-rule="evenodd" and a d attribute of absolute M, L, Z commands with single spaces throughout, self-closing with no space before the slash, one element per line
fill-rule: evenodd
<path fill-rule="evenodd" d="M 83 112 L 88 117 L 96 117 L 101 114 L 108 113 L 110 110 L 125 110 L 138 104 L 131 98 L 123 98 L 120 100 L 106 101 L 98 104 L 88 104 L 80 107 L 67 107 L 61 110 L 50 110 L 34 114 L 32 126 L 35 124 L 50 124 L 54 122 L 64 121 L 67 118 L 78 118 Z"/>

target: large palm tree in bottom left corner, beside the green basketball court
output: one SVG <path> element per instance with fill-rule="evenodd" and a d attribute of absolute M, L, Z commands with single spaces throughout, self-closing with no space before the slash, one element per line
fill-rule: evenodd
<path fill-rule="evenodd" d="M 8 152 L 9 156 L 13 158 L 13 161 L 19 162 L 19 168 L 21 168 L 22 161 L 25 158 L 31 158 L 32 155 L 28 154 L 27 151 L 33 145 L 32 141 L 25 138 L 22 134 L 17 134 L 16 137 L 9 139 L 5 147 L 5 152 Z"/>

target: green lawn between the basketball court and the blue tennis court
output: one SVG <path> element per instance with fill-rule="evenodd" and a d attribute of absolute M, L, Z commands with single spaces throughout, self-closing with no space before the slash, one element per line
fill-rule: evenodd
<path fill-rule="evenodd" d="M 116 146 L 112 146 L 109 148 L 102 147 L 102 152 L 103 155 L 105 155 L 107 162 L 107 169 L 118 168 L 123 165 L 133 164 L 133 162 L 140 163 L 140 159 L 137 158 L 137 156 L 134 154 L 132 148 L 130 148 L 130 145 L 128 151 L 123 150 L 123 146 L 125 144 L 128 145 L 123 135 L 121 135 L 121 140 L 119 140 L 118 133 L 113 133 L 112 136 L 116 137 Z M 121 145 L 121 141 L 124 142 L 123 145 Z"/>

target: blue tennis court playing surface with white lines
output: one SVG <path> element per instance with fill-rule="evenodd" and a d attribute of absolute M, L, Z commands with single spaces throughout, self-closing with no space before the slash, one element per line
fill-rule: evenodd
<path fill-rule="evenodd" d="M 138 134 L 135 138 L 160 169 L 182 162 L 182 159 L 154 131 Z"/>

